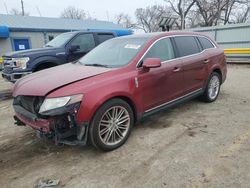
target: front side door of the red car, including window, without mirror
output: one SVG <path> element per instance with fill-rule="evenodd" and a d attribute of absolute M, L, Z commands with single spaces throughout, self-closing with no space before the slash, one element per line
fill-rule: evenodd
<path fill-rule="evenodd" d="M 183 72 L 181 61 L 175 59 L 169 38 L 156 42 L 146 53 L 146 58 L 160 58 L 161 67 L 139 70 L 139 87 L 142 90 L 144 111 L 151 110 L 182 95 Z"/>

